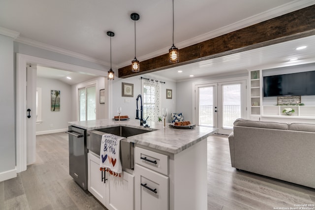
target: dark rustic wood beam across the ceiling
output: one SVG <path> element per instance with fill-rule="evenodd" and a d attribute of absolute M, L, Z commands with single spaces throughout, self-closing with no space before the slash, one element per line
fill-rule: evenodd
<path fill-rule="evenodd" d="M 140 62 L 140 72 L 131 65 L 118 69 L 127 78 L 200 60 L 213 59 L 315 34 L 315 5 L 185 47 L 179 50 L 180 62 L 168 62 L 168 54 Z M 130 60 L 131 62 L 131 60 Z"/>

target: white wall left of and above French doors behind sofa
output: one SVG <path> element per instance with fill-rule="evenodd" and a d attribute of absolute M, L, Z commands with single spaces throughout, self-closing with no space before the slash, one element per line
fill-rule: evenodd
<path fill-rule="evenodd" d="M 217 76 L 208 76 L 203 78 L 195 78 L 189 79 L 187 81 L 176 83 L 176 110 L 183 112 L 184 119 L 192 122 L 193 115 L 195 114 L 192 108 L 194 107 L 194 95 L 192 94 L 192 89 L 195 84 L 202 84 L 205 82 L 213 83 L 218 82 L 220 80 L 226 79 L 237 79 L 248 77 L 247 73 L 233 73 L 233 74 L 225 74 L 225 75 L 217 75 Z M 196 123 L 196 122 L 193 122 Z"/>

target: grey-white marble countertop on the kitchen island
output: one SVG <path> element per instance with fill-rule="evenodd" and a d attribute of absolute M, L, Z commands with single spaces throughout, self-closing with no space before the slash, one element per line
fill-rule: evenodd
<path fill-rule="evenodd" d="M 68 122 L 69 125 L 80 127 L 87 130 L 95 130 L 99 128 L 114 127 L 114 126 L 128 126 L 143 130 L 150 130 L 147 132 L 127 138 L 128 142 L 147 146 L 157 150 L 163 150 L 170 153 L 179 153 L 201 140 L 212 135 L 217 128 L 199 127 L 192 129 L 176 129 L 171 128 L 166 123 L 166 128 L 163 128 L 163 122 L 148 122 L 149 128 L 140 126 L 139 120 L 88 120 Z"/>

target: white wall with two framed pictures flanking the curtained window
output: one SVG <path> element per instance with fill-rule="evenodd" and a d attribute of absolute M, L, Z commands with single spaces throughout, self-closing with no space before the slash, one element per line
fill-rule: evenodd
<path fill-rule="evenodd" d="M 163 78 L 154 78 L 151 75 L 143 74 L 141 75 L 144 78 L 156 79 L 158 81 L 165 82 L 165 84 L 161 84 L 162 87 L 162 100 L 161 107 L 167 107 L 168 113 L 174 112 L 176 109 L 176 83 L 172 81 L 167 81 Z M 122 107 L 121 115 L 128 115 L 130 119 L 135 119 L 136 117 L 136 98 L 139 94 L 141 94 L 141 76 L 134 76 L 126 79 L 116 78 L 113 81 L 109 81 L 112 87 L 112 110 L 110 111 L 110 118 L 117 116 L 117 107 Z M 133 97 L 122 97 L 122 83 L 130 83 L 133 84 Z M 166 89 L 171 89 L 173 96 L 172 99 L 166 99 Z M 127 101 L 129 102 L 127 102 Z M 138 101 L 138 108 L 140 110 L 140 99 Z M 170 114 L 168 114 L 170 116 Z M 140 117 L 140 113 L 139 113 Z M 146 116 L 144 116 L 146 118 Z M 169 118 L 167 118 L 169 121 Z M 158 119 L 155 119 L 157 121 Z M 153 120 L 152 120 L 153 121 Z"/>

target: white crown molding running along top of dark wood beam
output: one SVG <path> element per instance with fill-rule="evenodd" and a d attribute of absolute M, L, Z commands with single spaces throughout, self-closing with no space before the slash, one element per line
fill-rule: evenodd
<path fill-rule="evenodd" d="M 235 30 L 243 29 L 243 28 L 246 28 L 248 26 L 252 26 L 254 24 L 257 24 L 257 23 L 260 23 L 260 22 L 263 22 L 266 20 L 270 20 L 272 18 L 275 18 L 275 17 L 281 16 L 281 15 L 284 15 L 284 14 L 287 14 L 287 13 L 311 6 L 313 4 L 314 4 L 314 0 L 295 0 L 295 1 L 292 1 L 290 3 L 286 3 L 284 5 L 281 5 L 281 6 L 272 8 L 270 10 L 267 10 L 265 12 L 259 13 L 257 15 L 252 16 L 252 17 L 243 19 L 243 20 L 238 21 L 236 23 L 224 26 L 220 29 L 212 30 L 210 32 L 201 34 L 199 36 L 195 36 L 191 39 L 176 43 L 176 46 L 179 49 L 185 48 L 185 47 L 188 47 L 188 46 L 191 46 L 191 45 L 194 45 L 194 44 L 197 44 L 197 43 L 200 43 L 200 42 L 203 42 L 203 41 L 206 41 L 206 40 L 218 37 L 218 36 L 221 36 L 223 34 L 226 34 L 226 33 L 229 33 L 229 32 L 235 31 Z M 152 59 L 152 58 L 155 58 L 157 56 L 160 56 L 160 55 L 164 55 L 164 54 L 168 53 L 168 49 L 169 48 L 167 47 L 167 48 L 163 48 L 163 49 L 160 49 L 158 51 L 146 54 L 145 56 L 140 56 L 140 57 L 138 57 L 138 60 L 140 60 L 140 62 L 141 62 L 141 60 L 148 60 L 148 59 Z M 122 67 L 125 67 L 127 65 L 130 65 L 130 63 L 131 63 L 130 60 L 125 61 L 123 63 L 119 63 L 118 68 L 122 68 Z"/>

